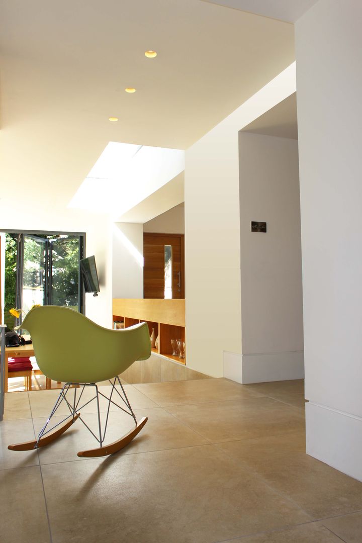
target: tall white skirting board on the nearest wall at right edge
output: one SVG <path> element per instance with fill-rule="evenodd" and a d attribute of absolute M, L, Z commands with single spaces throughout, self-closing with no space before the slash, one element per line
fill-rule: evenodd
<path fill-rule="evenodd" d="M 362 419 L 306 403 L 307 454 L 362 481 Z"/>

